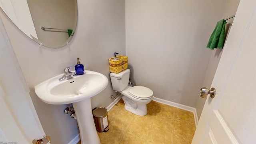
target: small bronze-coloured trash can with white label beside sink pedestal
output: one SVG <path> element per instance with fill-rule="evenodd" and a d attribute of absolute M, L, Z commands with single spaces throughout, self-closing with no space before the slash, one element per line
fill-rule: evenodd
<path fill-rule="evenodd" d="M 108 127 L 108 110 L 104 107 L 94 108 L 92 110 L 94 123 L 98 132 L 107 132 Z"/>

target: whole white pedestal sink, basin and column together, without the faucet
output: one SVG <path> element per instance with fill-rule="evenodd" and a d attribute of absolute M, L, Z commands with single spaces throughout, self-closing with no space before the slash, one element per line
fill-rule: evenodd
<path fill-rule="evenodd" d="M 62 76 L 55 76 L 35 86 L 37 96 L 47 104 L 73 103 L 82 144 L 100 144 L 90 98 L 106 88 L 108 78 L 90 70 L 84 70 L 84 75 L 60 82 L 58 79 Z"/>

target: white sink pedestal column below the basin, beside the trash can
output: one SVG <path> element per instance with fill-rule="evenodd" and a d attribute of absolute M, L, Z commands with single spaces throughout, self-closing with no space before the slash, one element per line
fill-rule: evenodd
<path fill-rule="evenodd" d="M 73 103 L 82 144 L 100 144 L 92 116 L 91 98 Z"/>

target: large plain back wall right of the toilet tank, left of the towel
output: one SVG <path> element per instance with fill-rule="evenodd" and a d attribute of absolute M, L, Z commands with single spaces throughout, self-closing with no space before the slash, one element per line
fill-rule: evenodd
<path fill-rule="evenodd" d="M 126 0 L 126 55 L 132 83 L 196 107 L 225 0 Z"/>

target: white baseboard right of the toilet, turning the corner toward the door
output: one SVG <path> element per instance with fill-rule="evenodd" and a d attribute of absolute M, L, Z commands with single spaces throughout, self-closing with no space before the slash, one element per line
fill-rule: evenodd
<path fill-rule="evenodd" d="M 193 108 L 193 107 L 190 107 L 190 106 L 185 106 L 183 104 L 178 104 L 178 103 L 171 102 L 171 101 L 168 101 L 168 100 L 163 100 L 161 98 L 156 98 L 156 97 L 153 97 L 153 101 L 159 102 L 159 103 L 162 103 L 162 104 L 166 104 L 168 106 L 173 106 L 175 108 L 180 108 L 182 110 L 187 110 L 189 112 L 193 112 L 195 124 L 197 126 L 197 124 L 198 124 L 198 117 L 197 117 L 197 113 L 196 113 L 196 108 Z"/>

